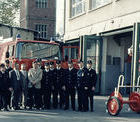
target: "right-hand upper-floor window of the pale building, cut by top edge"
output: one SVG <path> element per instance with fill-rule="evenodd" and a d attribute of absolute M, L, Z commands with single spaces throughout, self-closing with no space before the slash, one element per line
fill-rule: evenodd
<path fill-rule="evenodd" d="M 96 9 L 110 3 L 112 0 L 90 0 L 90 9 Z"/>

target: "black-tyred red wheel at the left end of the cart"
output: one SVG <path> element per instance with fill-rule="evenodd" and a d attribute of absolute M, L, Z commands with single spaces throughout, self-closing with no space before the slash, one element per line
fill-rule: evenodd
<path fill-rule="evenodd" d="M 122 107 L 120 100 L 115 96 L 110 97 L 107 102 L 108 113 L 112 116 L 117 116 L 120 113 L 121 109 Z"/>

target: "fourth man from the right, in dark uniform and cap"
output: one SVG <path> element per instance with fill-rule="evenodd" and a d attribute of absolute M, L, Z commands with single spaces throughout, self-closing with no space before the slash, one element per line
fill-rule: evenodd
<path fill-rule="evenodd" d="M 56 80 L 53 82 L 53 104 L 54 108 L 58 107 L 58 95 L 59 95 L 59 106 L 62 108 L 64 105 L 64 69 L 61 67 L 61 61 L 56 61 Z"/>

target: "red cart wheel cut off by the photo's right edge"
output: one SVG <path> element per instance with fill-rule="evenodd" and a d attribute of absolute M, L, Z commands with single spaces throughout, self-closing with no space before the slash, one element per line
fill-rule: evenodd
<path fill-rule="evenodd" d="M 129 101 L 136 101 L 130 102 L 130 108 L 135 112 L 140 112 L 140 93 L 132 92 L 129 97 Z"/>

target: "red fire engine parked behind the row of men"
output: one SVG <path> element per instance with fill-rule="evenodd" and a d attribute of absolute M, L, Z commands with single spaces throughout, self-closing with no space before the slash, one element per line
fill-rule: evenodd
<path fill-rule="evenodd" d="M 63 43 L 53 41 L 22 40 L 12 38 L 0 41 L 0 63 L 9 60 L 13 67 L 15 63 L 26 64 L 27 70 L 32 67 L 32 62 L 37 58 L 45 62 L 62 61 L 62 67 L 68 67 L 68 60 L 72 60 L 77 68 L 79 58 L 78 46 L 66 46 Z"/>

